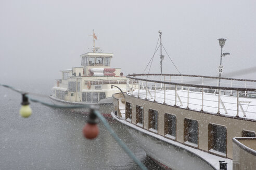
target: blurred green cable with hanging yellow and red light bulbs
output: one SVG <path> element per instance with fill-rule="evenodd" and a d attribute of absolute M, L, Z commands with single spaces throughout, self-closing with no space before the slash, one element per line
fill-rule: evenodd
<path fill-rule="evenodd" d="M 61 109 L 75 109 L 75 108 L 89 108 L 90 114 L 89 118 L 87 120 L 87 124 L 84 126 L 83 133 L 84 136 L 88 139 L 93 139 L 97 137 L 98 135 L 98 126 L 97 123 L 98 121 L 96 120 L 97 118 L 101 120 L 101 122 L 104 124 L 104 126 L 107 128 L 109 131 L 110 135 L 117 141 L 118 145 L 125 151 L 127 155 L 135 162 L 137 165 L 140 167 L 140 169 L 146 170 L 146 166 L 140 162 L 133 152 L 123 143 L 123 141 L 118 137 L 118 135 L 112 130 L 110 127 L 109 123 L 107 120 L 100 114 L 100 112 L 97 110 L 96 107 L 93 107 L 92 105 L 89 104 L 83 104 L 83 105 L 57 105 L 57 104 L 50 104 L 43 102 L 41 100 L 37 100 L 36 98 L 32 98 L 29 94 L 33 95 L 41 95 L 41 94 L 36 94 L 36 93 L 29 93 L 29 92 L 24 92 L 21 90 L 18 90 L 16 88 L 13 88 L 11 86 L 8 86 L 6 84 L 1 84 L 0 86 L 11 89 L 15 92 L 18 92 L 22 95 L 22 103 L 21 103 L 21 109 L 20 109 L 20 115 L 24 118 L 28 118 L 32 114 L 32 109 L 29 106 L 29 100 L 31 102 L 35 103 L 40 103 L 44 106 L 50 107 L 50 108 L 61 108 Z M 46 96 L 46 95 L 41 95 L 41 96 Z M 47 96 L 48 97 L 48 96 Z"/>

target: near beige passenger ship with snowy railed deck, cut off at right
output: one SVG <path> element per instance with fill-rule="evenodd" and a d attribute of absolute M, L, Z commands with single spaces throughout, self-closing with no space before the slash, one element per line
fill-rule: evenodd
<path fill-rule="evenodd" d="M 160 166 L 256 169 L 256 80 L 133 74 L 127 83 L 111 115 Z"/>

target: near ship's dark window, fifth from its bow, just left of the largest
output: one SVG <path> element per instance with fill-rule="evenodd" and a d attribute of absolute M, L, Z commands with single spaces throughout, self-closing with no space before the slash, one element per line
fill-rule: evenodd
<path fill-rule="evenodd" d="M 198 147 L 198 122 L 184 119 L 184 143 Z"/>

